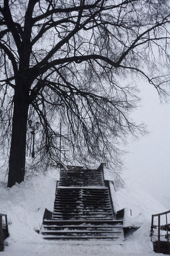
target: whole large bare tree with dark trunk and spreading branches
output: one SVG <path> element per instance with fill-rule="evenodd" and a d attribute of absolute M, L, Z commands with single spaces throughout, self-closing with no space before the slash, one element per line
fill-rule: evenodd
<path fill-rule="evenodd" d="M 41 123 L 37 163 L 60 162 L 62 121 L 73 159 L 111 161 L 120 169 L 119 143 L 145 132 L 129 118 L 138 97 L 126 78 L 141 75 L 169 95 L 169 21 L 166 0 L 0 1 L 1 142 L 10 149 L 9 187 L 24 181 L 33 112 Z"/>

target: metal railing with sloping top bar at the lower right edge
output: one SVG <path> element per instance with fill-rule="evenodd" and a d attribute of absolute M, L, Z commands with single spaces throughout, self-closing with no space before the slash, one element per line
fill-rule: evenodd
<path fill-rule="evenodd" d="M 153 235 L 153 228 L 154 227 L 158 227 L 158 253 L 160 253 L 160 216 L 161 215 L 166 215 L 166 224 L 167 223 L 167 214 L 170 213 L 170 211 L 164 212 L 164 213 L 158 213 L 158 214 L 152 214 L 152 221 L 151 221 L 151 241 L 152 241 L 152 236 L 156 236 Z M 158 225 L 154 226 L 153 225 L 153 218 L 158 216 Z M 168 230 L 167 230 L 167 242 L 168 242 L 168 251 L 170 254 L 170 246 L 169 246 L 169 235 L 168 235 Z"/>

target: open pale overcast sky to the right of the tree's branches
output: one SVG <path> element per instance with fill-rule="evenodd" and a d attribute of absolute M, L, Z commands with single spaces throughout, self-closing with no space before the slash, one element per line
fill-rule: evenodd
<path fill-rule="evenodd" d="M 160 104 L 158 92 L 147 82 L 139 83 L 142 97 L 133 120 L 145 122 L 149 135 L 127 146 L 129 177 L 170 210 L 170 105 Z"/>

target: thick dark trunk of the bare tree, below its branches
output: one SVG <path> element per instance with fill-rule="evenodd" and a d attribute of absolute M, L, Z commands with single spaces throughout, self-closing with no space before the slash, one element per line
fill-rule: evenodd
<path fill-rule="evenodd" d="M 20 88 L 20 89 L 19 89 Z M 14 110 L 12 119 L 12 136 L 10 146 L 8 187 L 24 181 L 26 129 L 28 118 L 29 92 L 22 86 L 14 94 Z"/>

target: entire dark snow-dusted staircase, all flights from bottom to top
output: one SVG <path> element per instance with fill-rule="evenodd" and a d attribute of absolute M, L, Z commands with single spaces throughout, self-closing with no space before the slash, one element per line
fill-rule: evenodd
<path fill-rule="evenodd" d="M 123 239 L 123 221 L 116 220 L 103 169 L 61 170 L 51 220 L 44 220 L 44 239 Z"/>

